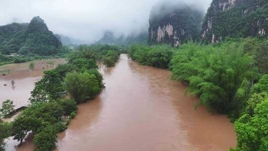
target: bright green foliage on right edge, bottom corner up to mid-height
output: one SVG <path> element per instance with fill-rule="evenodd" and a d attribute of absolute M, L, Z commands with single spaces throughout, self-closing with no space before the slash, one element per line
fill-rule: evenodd
<path fill-rule="evenodd" d="M 251 89 L 243 115 L 235 122 L 236 151 L 268 150 L 268 75 Z"/>

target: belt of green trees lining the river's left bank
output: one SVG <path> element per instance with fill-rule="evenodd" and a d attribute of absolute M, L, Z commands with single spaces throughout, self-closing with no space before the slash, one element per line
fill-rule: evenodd
<path fill-rule="evenodd" d="M 119 55 L 120 49 L 116 46 L 84 45 L 68 56 L 67 64 L 44 72 L 31 92 L 31 105 L 13 122 L 0 121 L 0 151 L 4 150 L 5 138 L 13 136 L 21 145 L 29 132 L 34 134 L 34 151 L 55 150 L 56 134 L 67 129 L 76 115 L 77 104 L 93 99 L 103 87 L 103 77 L 97 70 L 96 61 L 109 58 L 114 65 Z M 5 101 L 1 109 L 6 115 L 13 111 L 10 102 Z"/>

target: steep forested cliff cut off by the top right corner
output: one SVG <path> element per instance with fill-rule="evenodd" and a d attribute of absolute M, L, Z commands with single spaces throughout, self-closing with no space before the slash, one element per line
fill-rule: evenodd
<path fill-rule="evenodd" d="M 213 0 L 203 21 L 204 42 L 226 37 L 268 37 L 267 0 Z"/>

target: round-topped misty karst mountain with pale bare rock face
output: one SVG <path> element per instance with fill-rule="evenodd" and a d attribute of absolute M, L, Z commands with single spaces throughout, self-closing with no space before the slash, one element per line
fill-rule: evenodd
<path fill-rule="evenodd" d="M 202 16 L 201 11 L 182 2 L 156 4 L 149 18 L 148 44 L 168 43 L 177 47 L 187 40 L 198 40 Z"/>

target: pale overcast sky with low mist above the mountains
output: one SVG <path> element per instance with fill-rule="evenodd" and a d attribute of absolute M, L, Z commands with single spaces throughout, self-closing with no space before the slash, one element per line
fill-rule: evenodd
<path fill-rule="evenodd" d="M 152 5 L 160 0 L 0 0 L 0 25 L 45 20 L 54 34 L 94 41 L 105 30 L 117 35 L 147 30 Z M 169 1 L 169 0 L 165 0 Z M 203 10 L 212 0 L 185 0 Z"/>

